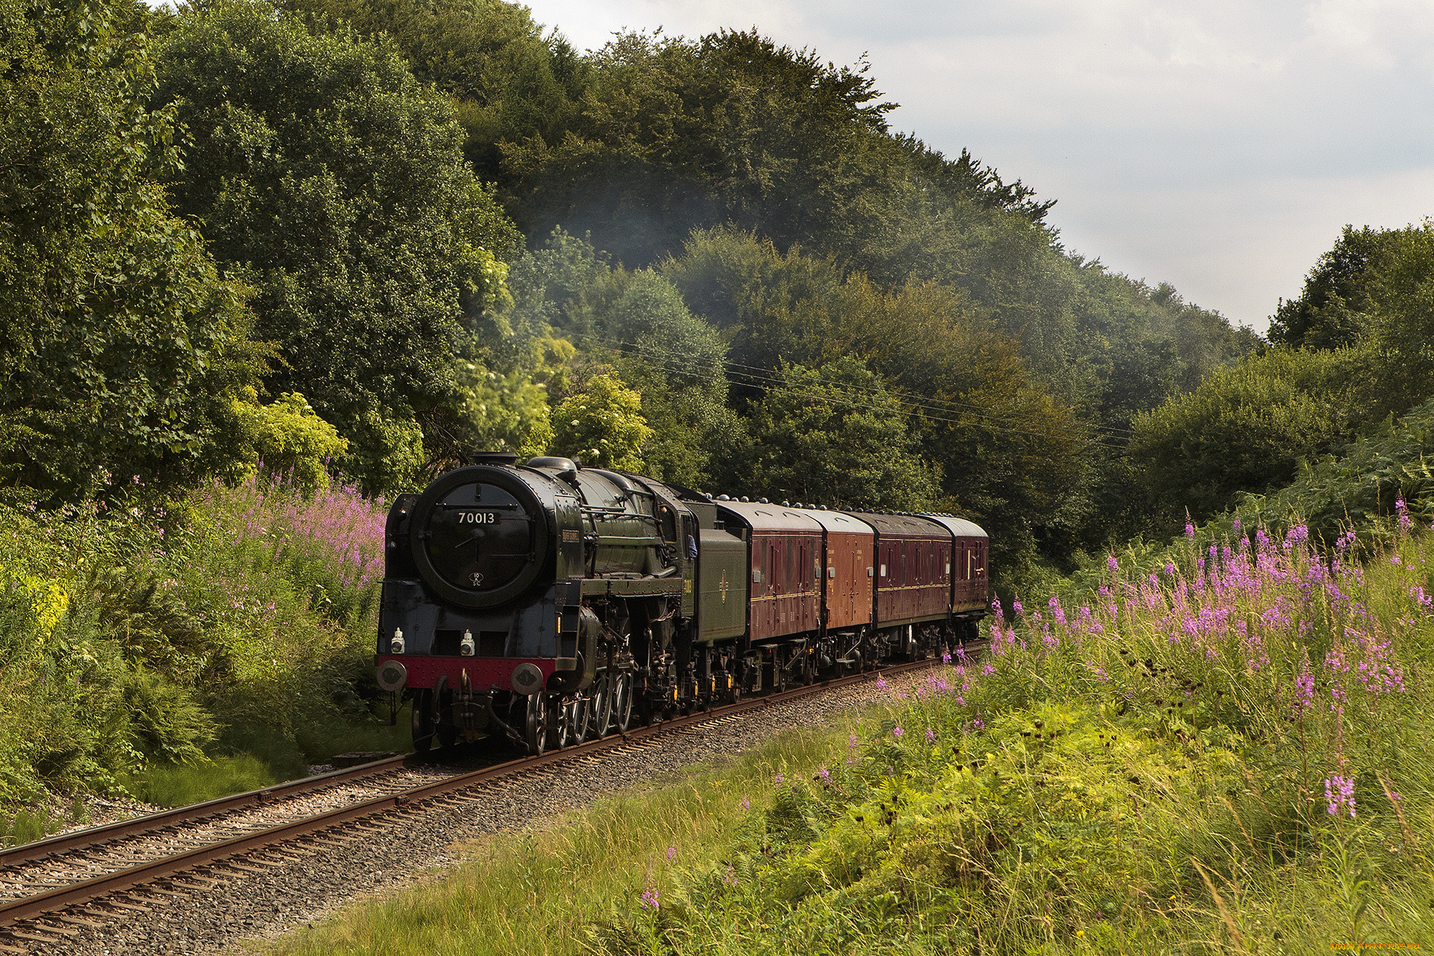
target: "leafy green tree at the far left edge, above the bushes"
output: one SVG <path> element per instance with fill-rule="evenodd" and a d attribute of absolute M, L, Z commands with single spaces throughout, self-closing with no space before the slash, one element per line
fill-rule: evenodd
<path fill-rule="evenodd" d="M 156 178 L 175 110 L 149 109 L 133 10 L 0 3 L 0 477 L 42 497 L 109 474 L 156 492 L 234 463 L 234 398 L 262 357 Z"/>

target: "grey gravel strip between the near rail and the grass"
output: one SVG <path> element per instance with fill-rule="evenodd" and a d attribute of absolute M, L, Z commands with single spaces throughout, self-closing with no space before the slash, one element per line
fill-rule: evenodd
<path fill-rule="evenodd" d="M 797 727 L 826 722 L 836 711 L 909 692 L 925 668 L 825 694 L 773 704 L 737 720 L 674 730 L 617 751 L 578 757 L 521 778 L 452 794 L 440 806 L 400 810 L 363 821 L 320 846 L 285 846 L 215 864 L 201 880 L 178 876 L 165 894 L 136 890 L 120 897 L 132 909 L 103 927 L 65 924 L 73 933 L 33 952 L 151 953 L 235 952 L 245 940 L 277 939 L 331 916 L 360 897 L 390 893 L 457 861 L 452 847 L 485 834 L 542 827 L 595 797 L 651 784 L 684 767 L 728 757 Z M 337 843 L 337 846 L 336 846 Z M 96 903 L 95 913 L 109 907 Z M 148 910 L 148 912 L 146 912 Z M 80 919 L 102 922 L 99 916 Z M 53 926 L 53 924 L 52 924 Z M 42 933 L 59 935 L 37 926 Z M 11 940 L 14 946 L 19 940 Z"/>

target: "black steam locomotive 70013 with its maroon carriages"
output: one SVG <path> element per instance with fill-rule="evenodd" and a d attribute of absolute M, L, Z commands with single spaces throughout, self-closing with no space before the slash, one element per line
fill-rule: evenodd
<path fill-rule="evenodd" d="M 379 685 L 413 745 L 529 754 L 975 636 L 987 533 L 488 453 L 389 510 Z"/>

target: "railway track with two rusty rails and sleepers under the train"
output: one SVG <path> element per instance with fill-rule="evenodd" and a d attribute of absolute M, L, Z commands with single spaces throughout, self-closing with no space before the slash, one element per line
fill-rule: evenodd
<path fill-rule="evenodd" d="M 541 767 L 658 748 L 674 732 L 741 720 L 774 704 L 929 668 L 931 661 L 820 681 L 661 721 L 541 757 L 469 773 L 394 757 L 261 791 L 181 807 L 0 851 L 0 953 L 30 953 L 86 929 L 214 892 L 227 877 L 275 871 L 304 856 L 380 834 L 399 818 L 482 800 L 485 790 Z M 413 781 L 413 773 L 429 778 Z M 344 800 L 344 787 L 374 795 Z M 324 801 L 337 806 L 314 810 Z M 280 818 L 287 817 L 287 818 Z M 278 818 L 278 821 L 275 821 Z"/>

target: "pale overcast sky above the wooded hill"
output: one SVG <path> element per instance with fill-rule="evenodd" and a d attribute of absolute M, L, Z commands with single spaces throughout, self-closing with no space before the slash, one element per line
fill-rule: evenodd
<path fill-rule="evenodd" d="M 1068 249 L 1265 328 L 1347 222 L 1434 215 L 1434 0 L 535 0 L 578 49 L 756 26 L 866 53 L 896 130 L 1057 199 Z"/>

